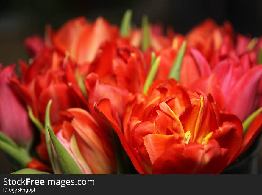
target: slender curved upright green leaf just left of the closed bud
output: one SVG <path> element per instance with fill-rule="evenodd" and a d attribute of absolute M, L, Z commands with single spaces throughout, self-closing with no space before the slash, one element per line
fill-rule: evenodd
<path fill-rule="evenodd" d="M 50 164 L 51 164 L 52 169 L 54 170 L 54 173 L 56 173 L 56 169 L 55 169 L 55 165 L 54 165 L 54 159 L 53 159 L 53 155 L 52 155 L 51 140 L 50 140 L 50 136 L 49 136 L 48 129 L 47 129 L 47 126 L 50 126 L 50 128 L 51 128 L 51 121 L 50 121 L 51 104 L 52 104 L 52 99 L 49 100 L 49 102 L 46 106 L 45 137 L 46 137 L 46 148 L 47 148 Z"/>

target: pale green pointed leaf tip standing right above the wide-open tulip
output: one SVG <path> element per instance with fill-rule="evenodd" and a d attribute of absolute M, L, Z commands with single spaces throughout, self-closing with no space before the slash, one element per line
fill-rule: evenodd
<path fill-rule="evenodd" d="M 184 54 L 185 54 L 185 47 L 186 47 L 186 41 L 183 41 L 183 43 L 180 47 L 180 50 L 177 53 L 177 57 L 174 61 L 174 64 L 171 68 L 171 71 L 169 73 L 169 78 L 174 78 L 178 82 L 179 82 L 179 78 L 180 78 L 180 68 L 181 68 L 183 57 L 184 57 Z"/>

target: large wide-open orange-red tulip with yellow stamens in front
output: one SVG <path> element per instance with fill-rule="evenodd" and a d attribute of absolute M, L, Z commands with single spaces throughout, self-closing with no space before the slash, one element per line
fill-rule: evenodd
<path fill-rule="evenodd" d="M 250 127 L 242 139 L 243 127 L 235 115 L 220 113 L 211 96 L 189 95 L 173 79 L 156 80 L 147 96 L 130 94 L 123 130 L 108 99 L 94 106 L 118 133 L 139 173 L 220 173 L 255 137 L 256 127 Z"/>

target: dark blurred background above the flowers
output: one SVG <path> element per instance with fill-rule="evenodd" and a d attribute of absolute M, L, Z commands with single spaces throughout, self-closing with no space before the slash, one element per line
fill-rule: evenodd
<path fill-rule="evenodd" d="M 137 26 L 141 24 L 142 15 L 146 14 L 150 22 L 173 26 L 176 32 L 185 34 L 205 18 L 213 18 L 218 23 L 229 20 L 235 31 L 242 34 L 253 37 L 262 34 L 261 0 L 9 0 L 0 2 L 0 62 L 8 65 L 16 63 L 19 58 L 27 60 L 23 47 L 24 39 L 33 34 L 43 36 L 47 23 L 57 29 L 67 20 L 77 16 L 84 15 L 88 20 L 94 20 L 101 15 L 110 23 L 119 25 L 127 9 L 133 10 L 132 20 Z M 260 164 L 259 170 L 262 173 L 262 160 Z M 8 161 L 0 151 L 0 173 L 10 171 Z"/>

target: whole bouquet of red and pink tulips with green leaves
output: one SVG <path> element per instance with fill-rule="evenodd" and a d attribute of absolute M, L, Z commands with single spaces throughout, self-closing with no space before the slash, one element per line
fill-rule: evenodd
<path fill-rule="evenodd" d="M 219 174 L 262 128 L 262 37 L 207 19 L 186 35 L 74 18 L 0 70 L 15 174 Z M 18 170 L 20 169 L 20 170 Z"/>

